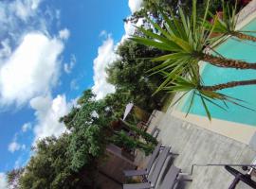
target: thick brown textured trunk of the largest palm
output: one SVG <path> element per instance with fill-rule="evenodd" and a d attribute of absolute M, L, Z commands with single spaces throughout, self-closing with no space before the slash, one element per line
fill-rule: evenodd
<path fill-rule="evenodd" d="M 218 67 L 236 68 L 236 69 L 256 69 L 256 63 L 248 63 L 243 60 L 231 60 L 221 57 L 216 57 L 210 54 L 203 54 L 199 57 L 200 60 L 207 61 L 210 64 Z"/>

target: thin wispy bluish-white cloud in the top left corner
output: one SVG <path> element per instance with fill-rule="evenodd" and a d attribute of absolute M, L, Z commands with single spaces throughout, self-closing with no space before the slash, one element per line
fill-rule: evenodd
<path fill-rule="evenodd" d="M 8 39 L 12 45 L 16 45 L 28 31 L 46 31 L 46 26 L 50 26 L 51 22 L 43 9 L 39 9 L 42 1 L 0 1 L 1 41 Z"/>

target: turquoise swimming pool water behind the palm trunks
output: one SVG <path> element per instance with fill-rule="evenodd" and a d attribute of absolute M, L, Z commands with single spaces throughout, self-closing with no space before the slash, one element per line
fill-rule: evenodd
<path fill-rule="evenodd" d="M 247 24 L 247 26 L 244 26 L 243 30 L 256 31 L 256 19 Z M 256 33 L 251 35 L 256 36 Z M 219 45 L 215 50 L 226 58 L 256 62 L 256 43 L 238 42 L 237 40 L 229 39 L 225 43 Z M 236 69 L 218 68 L 207 63 L 202 72 L 202 78 L 206 85 L 214 85 L 233 80 L 255 79 L 256 70 L 241 71 Z M 243 99 L 246 101 L 244 105 L 256 110 L 256 85 L 226 89 L 222 90 L 221 93 Z M 182 112 L 187 112 L 190 98 L 191 95 L 189 94 L 181 108 Z M 256 112 L 249 111 L 230 103 L 228 104 L 229 110 L 227 112 L 214 105 L 208 105 L 212 118 L 256 127 Z M 191 113 L 207 116 L 199 97 L 195 98 Z"/>

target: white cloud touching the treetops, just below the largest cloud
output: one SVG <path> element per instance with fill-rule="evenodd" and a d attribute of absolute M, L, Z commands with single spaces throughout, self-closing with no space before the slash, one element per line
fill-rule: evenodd
<path fill-rule="evenodd" d="M 35 141 L 47 136 L 60 136 L 64 131 L 64 124 L 59 122 L 60 117 L 67 114 L 72 103 L 67 103 L 65 95 L 56 98 L 38 96 L 30 100 L 30 106 L 35 110 L 38 124 L 34 127 Z"/>

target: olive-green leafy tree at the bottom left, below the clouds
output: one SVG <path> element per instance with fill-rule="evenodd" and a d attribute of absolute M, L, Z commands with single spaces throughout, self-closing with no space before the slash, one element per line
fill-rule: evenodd
<path fill-rule="evenodd" d="M 70 166 L 72 156 L 68 153 L 69 140 L 70 135 L 65 133 L 58 139 L 47 137 L 39 141 L 35 154 L 19 179 L 19 188 L 93 188 L 92 167 L 74 171 Z"/>

